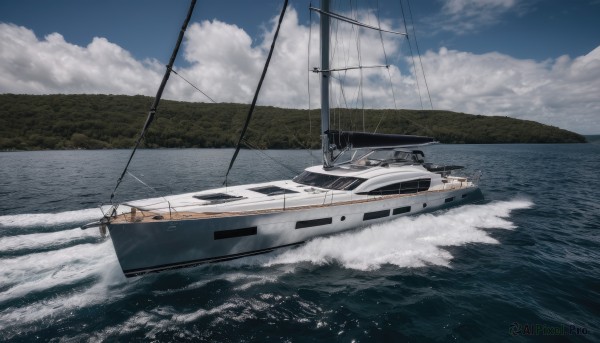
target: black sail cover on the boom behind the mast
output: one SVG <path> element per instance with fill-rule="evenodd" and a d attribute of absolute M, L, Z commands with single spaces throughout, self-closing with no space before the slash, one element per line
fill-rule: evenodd
<path fill-rule="evenodd" d="M 435 139 L 425 136 L 396 135 L 354 131 L 326 131 L 329 142 L 339 150 L 344 148 L 383 148 L 414 146 L 434 143 Z"/>

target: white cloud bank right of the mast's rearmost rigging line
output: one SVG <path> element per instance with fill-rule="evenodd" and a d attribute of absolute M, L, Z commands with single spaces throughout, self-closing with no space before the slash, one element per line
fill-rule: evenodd
<path fill-rule="evenodd" d="M 436 108 L 600 132 L 600 47 L 543 62 L 442 48 L 423 63 Z"/>

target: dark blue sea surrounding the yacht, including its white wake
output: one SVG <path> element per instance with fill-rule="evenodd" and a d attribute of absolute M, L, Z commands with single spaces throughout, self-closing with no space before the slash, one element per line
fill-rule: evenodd
<path fill-rule="evenodd" d="M 486 200 L 130 279 L 79 228 L 128 154 L 0 153 L 0 341 L 600 341 L 600 145 L 430 146 L 481 170 Z M 220 187 L 231 154 L 139 151 L 116 199 Z M 229 183 L 318 156 L 242 151 Z"/>

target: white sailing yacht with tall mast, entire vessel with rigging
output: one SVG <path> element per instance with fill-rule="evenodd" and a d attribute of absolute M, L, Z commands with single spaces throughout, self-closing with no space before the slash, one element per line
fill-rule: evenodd
<path fill-rule="evenodd" d="M 165 79 L 193 5 L 194 1 Z M 291 180 L 114 205 L 100 221 L 83 228 L 108 229 L 125 276 L 261 254 L 315 237 L 482 199 L 474 180 L 451 175 L 462 167 L 425 162 L 418 147 L 434 143 L 433 138 L 329 127 L 329 22 L 345 17 L 330 12 L 328 0 L 322 0 L 315 10 L 321 26 L 318 72 L 323 164 L 309 167 Z M 165 79 L 144 130 L 156 112 Z M 238 151 L 239 145 L 234 156 Z M 134 152 L 135 148 L 129 162 Z M 125 171 L 117 187 L 124 175 Z"/>

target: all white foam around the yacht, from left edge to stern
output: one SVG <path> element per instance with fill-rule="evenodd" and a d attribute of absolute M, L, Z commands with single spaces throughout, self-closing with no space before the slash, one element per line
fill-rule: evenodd
<path fill-rule="evenodd" d="M 300 262 L 316 265 L 338 263 L 345 268 L 359 270 L 374 270 L 384 264 L 400 267 L 418 267 L 427 264 L 449 266 L 452 255 L 443 249 L 444 246 L 471 242 L 496 244 L 498 242 L 481 229 L 514 229 L 515 225 L 507 219 L 510 212 L 531 206 L 533 204 L 528 200 L 499 201 L 486 205 L 462 206 L 445 212 L 403 217 L 361 230 L 314 239 L 296 249 L 243 260 L 246 264 L 269 268 L 277 266 L 279 273 L 293 272 L 294 264 Z M 81 220 L 82 211 L 70 213 L 73 213 L 77 220 Z M 83 211 L 83 214 L 85 213 Z M 44 219 L 44 222 L 48 221 Z M 45 237 L 44 234 L 32 236 L 30 242 L 33 242 L 31 244 L 34 246 L 44 242 L 59 244 L 69 239 L 68 237 L 73 233 L 71 231 L 73 230 L 45 234 Z M 10 239 L 1 242 L 4 246 L 15 249 L 20 247 Z M 229 267 L 237 269 L 240 266 L 230 264 Z M 277 282 L 279 274 L 277 272 L 275 274 L 252 276 L 238 271 L 215 277 L 225 278 L 234 283 L 234 290 L 244 290 L 256 284 Z M 131 292 L 136 292 L 140 284 L 151 283 L 153 280 L 150 277 L 125 282 L 112 244 L 107 240 L 100 244 L 80 244 L 65 249 L 3 259 L 0 261 L 0 285 L 7 287 L 0 293 L 0 301 L 26 298 L 28 294 L 46 291 L 55 286 L 75 285 L 78 281 L 90 277 L 97 277 L 98 280 L 88 288 L 60 296 L 45 297 L 21 307 L 0 310 L 0 327 L 18 327 L 19 330 L 27 330 L 30 323 L 49 317 L 68 317 L 73 309 L 117 301 Z M 114 287 L 115 284 L 119 286 Z M 204 285 L 205 281 L 198 281 L 184 289 L 202 288 Z M 118 291 L 115 292 L 115 288 L 118 288 Z M 228 313 L 248 306 L 260 310 L 266 304 L 260 301 L 249 303 L 233 298 L 213 308 L 196 309 L 184 314 L 167 310 L 167 317 L 176 322 L 187 323 L 207 315 L 233 315 Z M 137 330 L 140 325 L 145 325 L 148 316 L 164 318 L 160 313 L 142 312 L 133 316 L 128 324 L 120 328 Z M 233 315 L 231 319 L 243 320 L 242 317 L 237 318 Z M 172 325 L 172 321 L 165 320 L 164 325 Z M 110 335 L 110 332 L 102 335 L 106 334 Z"/>

